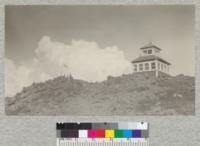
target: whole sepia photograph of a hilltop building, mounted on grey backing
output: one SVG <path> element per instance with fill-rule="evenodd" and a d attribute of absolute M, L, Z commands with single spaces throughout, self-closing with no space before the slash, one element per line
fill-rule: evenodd
<path fill-rule="evenodd" d="M 194 5 L 7 5 L 7 115 L 195 114 Z"/>

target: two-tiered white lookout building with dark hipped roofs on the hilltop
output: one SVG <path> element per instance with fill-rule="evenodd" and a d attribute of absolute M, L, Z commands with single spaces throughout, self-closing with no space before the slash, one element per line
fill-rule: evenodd
<path fill-rule="evenodd" d="M 160 56 L 161 49 L 152 42 L 140 48 L 140 57 L 132 61 L 134 72 L 154 71 L 156 77 L 159 72 L 169 74 L 170 63 Z"/>

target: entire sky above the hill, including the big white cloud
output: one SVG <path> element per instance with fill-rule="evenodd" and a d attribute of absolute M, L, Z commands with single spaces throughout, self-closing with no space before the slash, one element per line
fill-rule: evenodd
<path fill-rule="evenodd" d="M 7 6 L 6 94 L 70 73 L 95 82 L 131 73 L 150 41 L 172 75 L 194 76 L 194 6 Z"/>

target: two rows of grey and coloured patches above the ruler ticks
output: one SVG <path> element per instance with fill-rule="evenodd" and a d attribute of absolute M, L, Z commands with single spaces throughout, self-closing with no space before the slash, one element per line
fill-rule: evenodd
<path fill-rule="evenodd" d="M 148 127 L 145 122 L 56 124 L 58 138 L 149 138 Z"/>

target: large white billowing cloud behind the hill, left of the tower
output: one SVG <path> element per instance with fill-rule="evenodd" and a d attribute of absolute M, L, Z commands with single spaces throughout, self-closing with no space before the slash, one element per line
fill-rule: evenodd
<path fill-rule="evenodd" d="M 16 65 L 6 59 L 6 96 L 13 96 L 32 82 L 71 74 L 89 82 L 106 80 L 108 76 L 132 73 L 132 65 L 116 46 L 100 48 L 96 42 L 72 40 L 71 44 L 42 37 L 34 58 L 27 65 Z"/>

